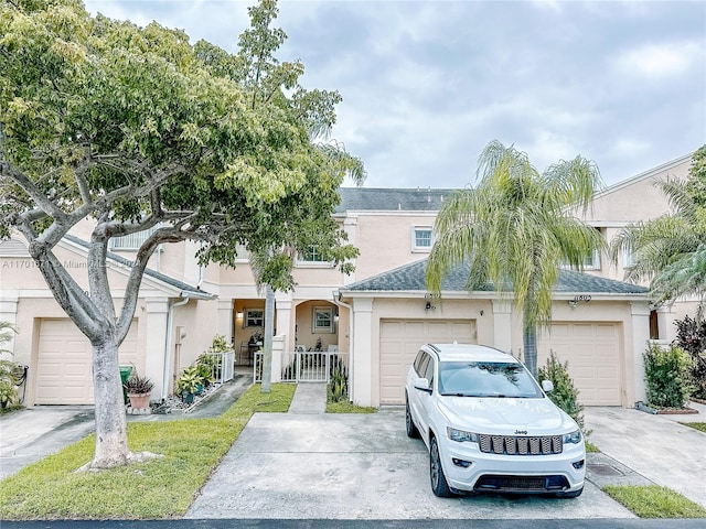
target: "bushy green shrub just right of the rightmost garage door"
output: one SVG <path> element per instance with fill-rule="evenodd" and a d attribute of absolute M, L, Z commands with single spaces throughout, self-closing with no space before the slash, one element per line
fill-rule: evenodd
<path fill-rule="evenodd" d="M 642 357 L 648 404 L 653 408 L 684 408 L 692 389 L 688 354 L 674 344 L 667 348 L 651 343 Z"/>

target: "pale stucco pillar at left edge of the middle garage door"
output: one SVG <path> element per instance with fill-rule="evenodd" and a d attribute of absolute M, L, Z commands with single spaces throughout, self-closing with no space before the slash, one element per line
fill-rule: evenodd
<path fill-rule="evenodd" d="M 350 398 L 361 406 L 376 406 L 373 402 L 373 300 L 359 299 L 353 301 L 353 350 L 351 350 L 350 373 L 353 380 L 349 380 L 351 387 Z M 377 349 L 377 347 L 375 347 Z M 379 377 L 379 374 L 378 374 Z"/>

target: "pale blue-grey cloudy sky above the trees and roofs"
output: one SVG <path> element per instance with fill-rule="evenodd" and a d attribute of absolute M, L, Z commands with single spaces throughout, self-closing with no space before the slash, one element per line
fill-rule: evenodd
<path fill-rule="evenodd" d="M 88 0 L 236 51 L 255 0 Z M 332 138 L 366 187 L 462 187 L 498 139 L 607 184 L 706 143 L 704 1 L 280 0 L 280 61 L 343 96 Z"/>

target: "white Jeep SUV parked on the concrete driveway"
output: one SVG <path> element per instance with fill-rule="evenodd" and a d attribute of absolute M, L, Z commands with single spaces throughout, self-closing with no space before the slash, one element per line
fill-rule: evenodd
<path fill-rule="evenodd" d="M 544 388 L 544 391 L 543 391 Z M 481 345 L 420 348 L 405 387 L 407 435 L 429 450 L 434 494 L 584 490 L 586 449 L 576 422 L 513 356 Z"/>

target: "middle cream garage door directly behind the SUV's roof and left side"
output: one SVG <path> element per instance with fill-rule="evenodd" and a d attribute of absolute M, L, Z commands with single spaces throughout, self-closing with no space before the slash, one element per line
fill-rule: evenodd
<path fill-rule="evenodd" d="M 407 370 L 424 344 L 475 344 L 475 320 L 382 320 L 379 324 L 381 404 L 405 401 Z"/>

